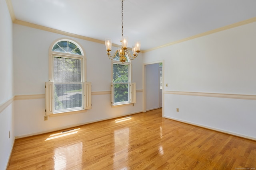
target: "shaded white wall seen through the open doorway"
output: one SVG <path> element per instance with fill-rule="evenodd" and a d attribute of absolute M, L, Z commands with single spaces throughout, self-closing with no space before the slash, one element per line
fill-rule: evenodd
<path fill-rule="evenodd" d="M 159 63 L 146 65 L 146 110 L 159 108 Z"/>

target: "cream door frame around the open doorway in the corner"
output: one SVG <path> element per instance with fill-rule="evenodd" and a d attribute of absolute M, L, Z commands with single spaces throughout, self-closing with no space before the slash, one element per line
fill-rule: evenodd
<path fill-rule="evenodd" d="M 149 64 L 156 64 L 156 63 L 163 63 L 162 67 L 162 84 L 164 84 L 164 60 L 160 61 L 153 61 L 149 63 L 144 63 L 143 64 L 143 69 L 142 69 L 142 87 L 143 87 L 143 112 L 146 112 L 146 65 Z M 164 86 L 162 86 L 162 117 L 164 117 Z"/>

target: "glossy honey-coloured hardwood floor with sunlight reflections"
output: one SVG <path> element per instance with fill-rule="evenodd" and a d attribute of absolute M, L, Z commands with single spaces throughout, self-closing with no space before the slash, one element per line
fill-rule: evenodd
<path fill-rule="evenodd" d="M 164 119 L 162 109 L 115 120 L 17 139 L 8 169 L 256 169 L 256 141 Z"/>

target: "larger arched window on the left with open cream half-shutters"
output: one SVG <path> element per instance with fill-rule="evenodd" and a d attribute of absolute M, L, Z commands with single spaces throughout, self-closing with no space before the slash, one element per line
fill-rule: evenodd
<path fill-rule="evenodd" d="M 90 83 L 86 82 L 86 60 L 78 43 L 60 39 L 49 50 L 49 82 L 46 82 L 46 113 L 89 109 Z M 89 95 L 89 96 L 88 96 Z"/>

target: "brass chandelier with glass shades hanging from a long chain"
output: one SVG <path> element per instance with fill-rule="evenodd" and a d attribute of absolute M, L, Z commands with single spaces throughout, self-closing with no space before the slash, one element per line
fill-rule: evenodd
<path fill-rule="evenodd" d="M 124 0 L 122 1 L 122 39 L 121 39 L 121 43 L 122 46 L 118 47 L 118 49 L 116 50 L 115 54 L 112 56 L 110 54 L 111 48 L 112 48 L 112 42 L 110 38 L 106 38 L 105 39 L 105 45 L 106 45 L 106 51 L 107 51 L 107 55 L 108 58 L 113 60 L 117 55 L 119 55 L 119 61 L 121 61 L 122 63 L 126 62 L 126 56 L 129 57 L 130 60 L 135 59 L 138 56 L 138 53 L 140 53 L 140 41 L 135 41 L 135 45 L 132 46 L 132 55 L 130 54 L 130 51 L 127 48 L 127 44 L 128 44 L 128 37 L 124 36 Z"/>

